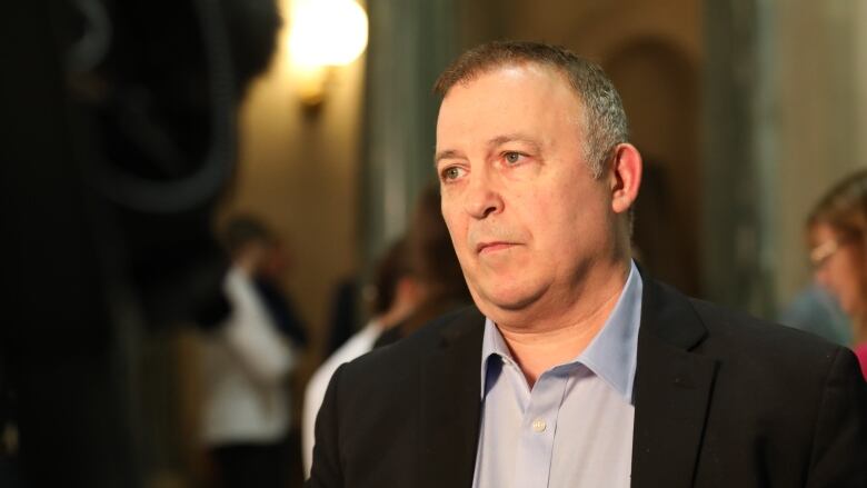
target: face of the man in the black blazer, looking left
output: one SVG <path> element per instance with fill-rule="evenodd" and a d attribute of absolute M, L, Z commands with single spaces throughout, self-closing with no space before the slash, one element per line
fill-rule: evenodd
<path fill-rule="evenodd" d="M 595 180 L 585 161 L 582 113 L 565 76 L 532 63 L 442 100 L 442 215 L 470 292 L 495 320 L 568 307 L 592 286 L 594 265 L 612 259 L 616 215 L 607 177 Z"/>

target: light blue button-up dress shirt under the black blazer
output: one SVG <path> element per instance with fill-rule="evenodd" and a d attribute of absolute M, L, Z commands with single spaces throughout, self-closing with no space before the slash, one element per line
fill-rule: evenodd
<path fill-rule="evenodd" d="M 641 318 L 635 262 L 590 345 L 529 388 L 497 326 L 485 323 L 475 488 L 628 487 Z"/>

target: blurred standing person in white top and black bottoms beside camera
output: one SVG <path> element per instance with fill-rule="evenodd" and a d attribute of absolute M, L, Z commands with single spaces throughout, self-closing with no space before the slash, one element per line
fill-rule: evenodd
<path fill-rule="evenodd" d="M 231 258 L 225 291 L 232 311 L 203 341 L 202 437 L 220 486 L 282 488 L 290 456 L 287 379 L 297 362 L 293 340 L 305 336 L 282 308 L 273 233 L 252 217 L 237 217 L 223 240 Z"/>

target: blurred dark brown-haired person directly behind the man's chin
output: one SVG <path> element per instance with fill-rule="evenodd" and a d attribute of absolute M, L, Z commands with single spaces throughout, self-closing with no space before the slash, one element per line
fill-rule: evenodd
<path fill-rule="evenodd" d="M 376 347 L 392 343 L 430 320 L 472 302 L 442 219 L 438 185 L 425 187 L 419 196 L 409 227 L 408 246 L 409 266 L 419 280 L 423 298 L 406 320 L 377 339 Z"/>

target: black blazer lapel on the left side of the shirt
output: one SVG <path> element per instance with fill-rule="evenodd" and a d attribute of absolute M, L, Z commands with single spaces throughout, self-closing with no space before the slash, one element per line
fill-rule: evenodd
<path fill-rule="evenodd" d="M 472 485 L 484 325 L 485 317 L 475 307 L 460 313 L 421 367 L 419 487 Z"/>

